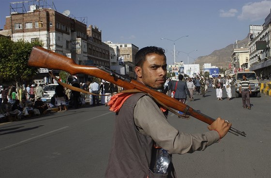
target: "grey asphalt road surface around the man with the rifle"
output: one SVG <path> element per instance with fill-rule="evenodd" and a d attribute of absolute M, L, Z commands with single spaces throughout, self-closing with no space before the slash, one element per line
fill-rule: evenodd
<path fill-rule="evenodd" d="M 224 91 L 224 97 L 226 93 Z M 174 155 L 182 178 L 270 178 L 271 98 L 217 101 L 214 89 L 188 102 L 194 109 L 230 120 L 247 137 L 227 134 L 205 151 Z M 0 125 L 0 178 L 103 178 L 114 124 L 108 107 L 84 107 L 45 117 Z M 181 132 L 202 133 L 207 125 L 195 118 L 169 122 Z"/>

